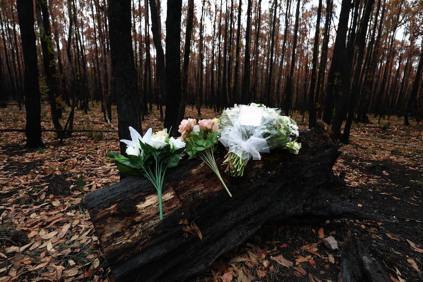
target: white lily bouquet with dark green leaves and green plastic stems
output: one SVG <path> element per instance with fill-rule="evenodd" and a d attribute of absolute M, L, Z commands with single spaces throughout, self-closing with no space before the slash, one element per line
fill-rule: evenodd
<path fill-rule="evenodd" d="M 127 157 L 109 152 L 107 155 L 114 160 L 117 168 L 123 174 L 144 176 L 153 184 L 159 195 L 159 218 L 163 220 L 161 203 L 161 189 L 164 174 L 167 169 L 178 165 L 180 154 L 185 150 L 185 143 L 181 139 L 169 137 L 167 129 L 152 133 L 149 128 L 144 136 L 129 127 L 131 139 L 121 139 L 127 149 Z"/>

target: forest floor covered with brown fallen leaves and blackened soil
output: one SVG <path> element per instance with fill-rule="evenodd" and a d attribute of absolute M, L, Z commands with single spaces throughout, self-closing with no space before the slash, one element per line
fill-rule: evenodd
<path fill-rule="evenodd" d="M 203 109 L 202 118 L 217 117 Z M 69 112 L 64 112 L 62 123 Z M 187 108 L 186 116 L 196 117 Z M 103 122 L 99 104 L 77 110 L 74 129 L 117 129 Z M 25 128 L 25 110 L 0 109 L 0 130 Z M 300 128 L 302 117 L 293 115 Z M 423 281 L 422 124 L 391 116 L 354 124 L 350 143 L 334 166 L 345 174 L 338 191 L 344 201 L 367 206 L 390 221 L 340 218 L 317 225 L 269 222 L 238 248 L 216 260 L 189 282 L 336 282 L 347 233 L 357 236 L 394 282 Z M 42 126 L 52 129 L 43 104 Z M 154 110 L 143 128 L 161 128 Z M 0 131 L 0 282 L 114 281 L 102 254 L 84 195 L 119 181 L 106 153 L 118 152 L 117 131 L 75 132 L 59 143 L 43 133 L 44 148 L 27 150 L 23 132 Z M 329 250 L 322 239 L 340 245 Z"/>

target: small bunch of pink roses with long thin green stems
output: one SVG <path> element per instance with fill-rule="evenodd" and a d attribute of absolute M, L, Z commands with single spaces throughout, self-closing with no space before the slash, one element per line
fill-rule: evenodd
<path fill-rule="evenodd" d="M 229 196 L 232 197 L 214 159 L 213 153 L 217 148 L 214 145 L 217 144 L 219 132 L 217 123 L 217 119 L 203 119 L 198 124 L 196 119 L 185 119 L 181 122 L 178 131 L 181 133 L 180 139 L 186 144 L 185 152 L 189 155 L 189 159 L 198 158 L 204 161 L 222 182 Z"/>

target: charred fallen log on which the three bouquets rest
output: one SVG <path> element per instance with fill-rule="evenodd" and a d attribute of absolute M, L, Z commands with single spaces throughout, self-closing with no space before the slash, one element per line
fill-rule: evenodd
<path fill-rule="evenodd" d="M 91 220 L 116 281 L 181 281 L 205 271 L 260 229 L 277 220 L 312 223 L 331 218 L 366 218 L 331 191 L 339 152 L 324 123 L 302 130 L 297 155 L 285 151 L 250 160 L 244 176 L 219 167 L 233 197 L 212 170 L 181 160 L 164 181 L 163 221 L 158 196 L 147 179 L 127 177 L 85 197 Z M 216 163 L 226 151 L 218 148 Z"/>

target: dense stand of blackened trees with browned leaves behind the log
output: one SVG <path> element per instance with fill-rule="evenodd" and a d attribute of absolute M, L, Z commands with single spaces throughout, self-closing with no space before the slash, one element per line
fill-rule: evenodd
<path fill-rule="evenodd" d="M 153 105 L 177 128 L 185 106 L 255 102 L 347 143 L 369 114 L 423 115 L 421 26 L 419 0 L 1 0 L 0 101 L 25 101 L 34 148 L 40 101 L 59 133 L 90 101 L 106 122 L 117 104 L 126 139 Z"/>

